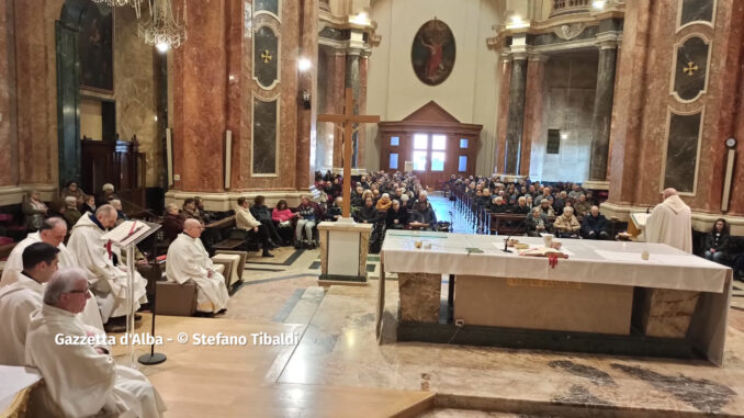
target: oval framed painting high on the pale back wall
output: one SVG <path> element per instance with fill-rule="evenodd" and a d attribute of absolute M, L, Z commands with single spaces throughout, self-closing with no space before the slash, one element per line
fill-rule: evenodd
<path fill-rule="evenodd" d="M 410 48 L 410 64 L 421 82 L 438 86 L 444 82 L 454 67 L 454 35 L 447 23 L 435 18 L 416 32 Z"/>

